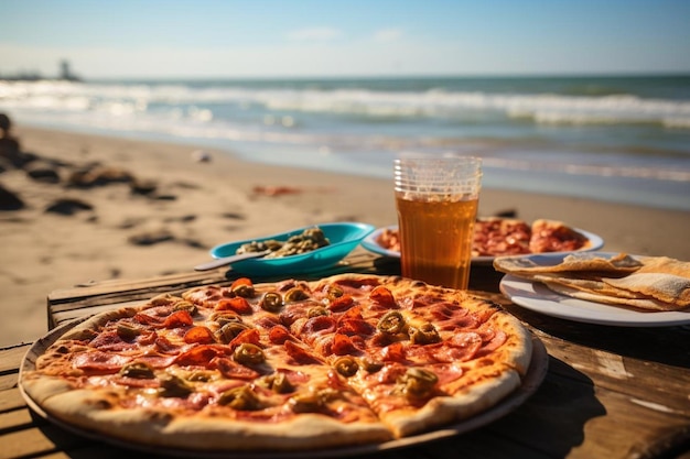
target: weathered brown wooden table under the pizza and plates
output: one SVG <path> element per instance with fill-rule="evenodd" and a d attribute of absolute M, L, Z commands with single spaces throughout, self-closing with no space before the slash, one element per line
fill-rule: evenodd
<path fill-rule="evenodd" d="M 346 261 L 323 275 L 399 273 L 396 260 L 359 249 Z M 53 292 L 48 328 L 142 303 L 160 292 L 233 278 L 231 272 L 218 270 Z M 549 370 L 536 393 L 514 412 L 470 433 L 363 457 L 690 458 L 690 328 L 618 328 L 542 316 L 498 294 L 499 278 L 490 266 L 473 269 L 471 288 L 502 304 L 546 346 Z M 33 414 L 17 386 L 29 348 L 0 349 L 0 458 L 151 457 L 86 439 Z"/>

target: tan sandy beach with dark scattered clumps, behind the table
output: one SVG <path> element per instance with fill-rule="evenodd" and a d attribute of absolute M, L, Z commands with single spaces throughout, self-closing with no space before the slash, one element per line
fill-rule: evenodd
<path fill-rule="evenodd" d="M 32 161 L 2 163 L 0 346 L 46 332 L 46 296 L 91 281 L 186 272 L 220 242 L 306 225 L 396 222 L 391 183 L 248 163 L 228 152 L 13 125 Z M 690 260 L 690 214 L 485 188 L 479 215 L 550 218 L 607 251 Z"/>

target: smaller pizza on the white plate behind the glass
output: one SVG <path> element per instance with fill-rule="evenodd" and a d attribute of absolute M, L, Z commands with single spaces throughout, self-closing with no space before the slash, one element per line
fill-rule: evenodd
<path fill-rule="evenodd" d="M 385 228 L 377 241 L 380 247 L 400 251 L 397 229 Z M 527 253 L 582 250 L 589 239 L 558 220 L 539 219 L 531 225 L 517 218 L 478 218 L 474 226 L 473 256 L 506 256 Z"/>

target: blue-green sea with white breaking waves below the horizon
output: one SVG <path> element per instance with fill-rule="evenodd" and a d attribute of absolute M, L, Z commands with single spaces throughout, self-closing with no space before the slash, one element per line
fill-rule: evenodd
<path fill-rule="evenodd" d="M 484 187 L 690 210 L 690 76 L 0 80 L 0 111 L 376 177 L 473 154 Z"/>

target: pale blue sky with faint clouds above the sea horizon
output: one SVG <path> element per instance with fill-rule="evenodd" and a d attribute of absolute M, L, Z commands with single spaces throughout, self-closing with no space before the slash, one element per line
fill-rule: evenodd
<path fill-rule="evenodd" d="M 690 0 L 0 0 L 0 75 L 690 74 Z"/>

